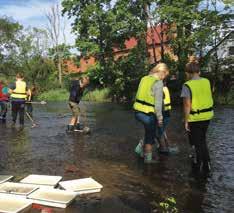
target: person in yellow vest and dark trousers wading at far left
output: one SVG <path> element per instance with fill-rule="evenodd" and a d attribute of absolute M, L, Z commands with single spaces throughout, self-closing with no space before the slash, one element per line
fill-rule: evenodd
<path fill-rule="evenodd" d="M 31 92 L 27 88 L 27 84 L 24 81 L 24 75 L 22 73 L 18 73 L 16 75 L 16 81 L 10 84 L 9 92 L 11 94 L 12 125 L 15 125 L 17 116 L 19 114 L 19 123 L 22 127 L 24 125 L 25 102 L 27 96 L 31 95 Z"/>

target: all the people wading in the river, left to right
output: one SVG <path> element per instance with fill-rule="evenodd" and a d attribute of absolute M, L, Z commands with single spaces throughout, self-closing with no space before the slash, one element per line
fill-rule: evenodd
<path fill-rule="evenodd" d="M 207 172 L 210 171 L 210 156 L 206 132 L 214 115 L 211 85 L 208 79 L 200 77 L 199 63 L 195 59 L 186 65 L 185 71 L 187 81 L 183 85 L 181 97 L 184 106 L 185 130 L 188 133 L 190 145 L 196 153 L 193 156 L 192 165 L 200 171 Z M 135 151 L 144 158 L 145 163 L 156 162 L 153 158 L 153 145 L 156 141 L 160 152 L 169 152 L 165 131 L 170 117 L 171 100 L 164 82 L 168 75 L 167 65 L 157 64 L 141 79 L 136 93 L 133 105 L 135 118 L 143 124 L 145 135 L 143 142 L 137 145 Z M 83 131 L 79 122 L 79 103 L 88 84 L 88 77 L 75 78 L 71 81 L 69 107 L 72 118 L 67 126 L 68 132 Z M 19 123 L 23 126 L 25 105 L 28 104 L 29 113 L 32 113 L 30 102 L 34 93 L 35 87 L 29 89 L 21 73 L 16 75 L 16 81 L 9 86 L 0 82 L 0 119 L 3 122 L 6 120 L 10 98 L 13 125 L 19 115 Z"/>

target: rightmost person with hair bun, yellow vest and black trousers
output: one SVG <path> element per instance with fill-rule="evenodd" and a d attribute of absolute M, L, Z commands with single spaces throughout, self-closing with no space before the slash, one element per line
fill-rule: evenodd
<path fill-rule="evenodd" d="M 193 167 L 199 171 L 210 171 L 210 155 L 206 143 L 206 132 L 214 116 L 210 81 L 200 77 L 200 67 L 196 58 L 191 58 L 185 67 L 188 81 L 182 88 L 185 130 L 189 142 L 195 149 Z"/>

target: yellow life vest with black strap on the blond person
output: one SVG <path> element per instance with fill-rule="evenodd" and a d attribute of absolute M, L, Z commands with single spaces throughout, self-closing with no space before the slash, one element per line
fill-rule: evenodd
<path fill-rule="evenodd" d="M 141 79 L 139 84 L 136 100 L 133 105 L 133 108 L 139 112 L 144 113 L 154 113 L 155 108 L 155 98 L 152 95 L 152 86 L 156 81 L 159 79 L 155 78 L 154 76 L 147 75 Z"/>

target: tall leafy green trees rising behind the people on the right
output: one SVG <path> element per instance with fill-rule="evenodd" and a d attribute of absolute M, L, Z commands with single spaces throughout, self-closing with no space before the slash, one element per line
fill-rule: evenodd
<path fill-rule="evenodd" d="M 162 33 L 169 38 L 176 60 L 164 55 L 163 39 L 159 35 L 161 41 L 157 45 L 161 45 L 161 57 L 155 57 L 154 62 L 163 61 L 169 65 L 177 77 L 176 90 L 179 90 L 188 56 L 199 55 L 202 69 L 206 69 L 211 57 L 207 48 L 216 47 L 221 39 L 219 30 L 225 27 L 223 23 L 229 16 L 217 10 L 217 3 L 208 0 L 64 0 L 63 12 L 76 17 L 73 30 L 78 35 L 76 46 L 82 56 L 96 56 L 97 66 L 89 73 L 96 86 L 109 87 L 116 100 L 132 101 L 138 82 L 149 67 L 146 41 L 149 23 L 167 26 Z M 228 6 L 230 2 L 223 3 Z M 136 47 L 116 57 L 113 48 L 125 49 L 125 41 L 132 37 L 137 39 Z"/>

